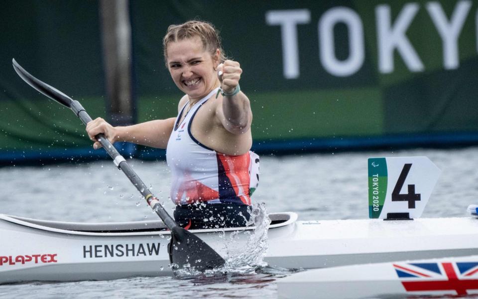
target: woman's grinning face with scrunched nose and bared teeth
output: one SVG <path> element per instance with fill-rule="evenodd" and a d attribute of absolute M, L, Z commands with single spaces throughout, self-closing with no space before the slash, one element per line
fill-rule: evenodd
<path fill-rule="evenodd" d="M 215 71 L 218 64 L 219 50 L 211 55 L 204 50 L 199 37 L 170 42 L 167 46 L 171 78 L 191 101 L 199 100 L 219 87 Z"/>

